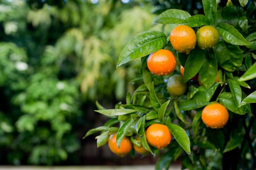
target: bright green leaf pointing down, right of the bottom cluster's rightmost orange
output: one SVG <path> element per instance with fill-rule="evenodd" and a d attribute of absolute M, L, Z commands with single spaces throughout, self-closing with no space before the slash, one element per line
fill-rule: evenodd
<path fill-rule="evenodd" d="M 166 126 L 169 128 L 178 144 L 180 144 L 187 154 L 190 154 L 190 141 L 186 131 L 182 127 L 173 123 L 167 123 Z"/>

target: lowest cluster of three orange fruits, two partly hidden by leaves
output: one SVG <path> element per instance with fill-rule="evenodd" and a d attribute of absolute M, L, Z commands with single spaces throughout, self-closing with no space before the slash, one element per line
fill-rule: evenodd
<path fill-rule="evenodd" d="M 169 128 L 164 124 L 158 123 L 152 124 L 147 128 L 146 137 L 148 144 L 157 149 L 165 148 L 172 140 L 172 134 L 169 131 Z M 132 148 L 134 148 L 137 153 L 142 155 L 147 155 L 150 153 L 142 146 L 139 136 L 135 137 L 135 139 L 139 142 L 139 145 L 133 144 L 129 137 L 124 136 L 119 148 L 117 147 L 116 138 L 117 133 L 110 135 L 108 140 L 109 149 L 116 155 L 123 157 L 129 154 L 132 151 Z"/>

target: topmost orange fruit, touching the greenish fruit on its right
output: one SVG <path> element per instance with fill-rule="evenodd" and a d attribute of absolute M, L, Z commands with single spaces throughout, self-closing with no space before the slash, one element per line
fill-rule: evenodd
<path fill-rule="evenodd" d="M 187 53 L 195 48 L 197 37 L 195 31 L 185 25 L 174 27 L 171 31 L 170 42 L 174 49 L 180 53 Z"/>

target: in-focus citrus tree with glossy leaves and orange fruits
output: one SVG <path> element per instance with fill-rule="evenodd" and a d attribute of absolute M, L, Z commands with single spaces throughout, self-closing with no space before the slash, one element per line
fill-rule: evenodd
<path fill-rule="evenodd" d="M 255 1 L 202 0 L 204 15 L 168 9 L 124 47 L 117 68 L 141 60 L 137 89 L 106 109 L 96 136 L 120 156 L 158 155 L 156 170 L 178 158 L 182 169 L 254 169 L 256 102 Z M 167 129 L 167 130 L 166 130 Z M 113 149 L 114 148 L 114 149 Z"/>

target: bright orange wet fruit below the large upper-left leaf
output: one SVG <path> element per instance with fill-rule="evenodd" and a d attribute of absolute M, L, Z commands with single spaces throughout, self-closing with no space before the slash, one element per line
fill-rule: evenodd
<path fill-rule="evenodd" d="M 176 67 L 176 58 L 171 51 L 160 49 L 148 56 L 147 65 L 154 75 L 168 75 Z"/>

